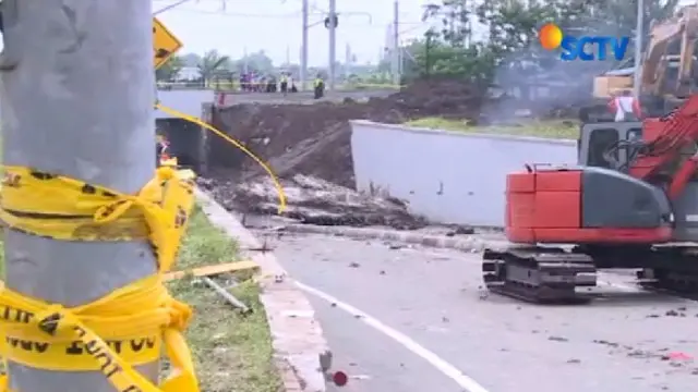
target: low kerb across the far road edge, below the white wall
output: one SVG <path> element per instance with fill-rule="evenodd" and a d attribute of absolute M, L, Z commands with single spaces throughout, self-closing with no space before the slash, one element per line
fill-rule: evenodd
<path fill-rule="evenodd" d="M 315 224 L 288 224 L 281 228 L 282 231 L 300 234 L 326 234 L 335 236 L 346 236 L 354 240 L 382 240 L 394 241 L 405 244 L 422 245 L 436 248 L 448 248 L 465 252 L 482 252 L 485 247 L 504 247 L 505 241 L 490 241 L 479 238 L 476 235 L 433 235 L 408 231 L 374 229 L 374 228 L 349 228 L 349 226 L 324 226 Z"/>

